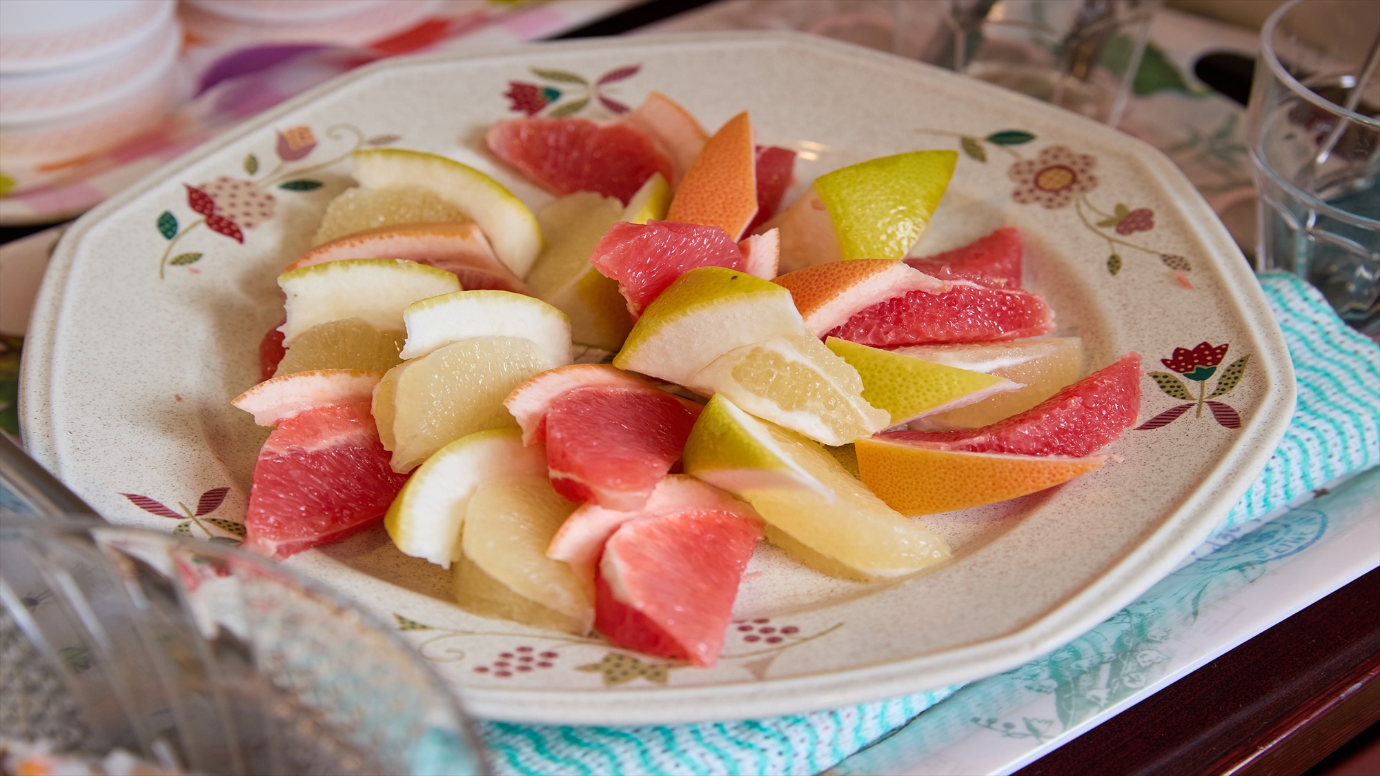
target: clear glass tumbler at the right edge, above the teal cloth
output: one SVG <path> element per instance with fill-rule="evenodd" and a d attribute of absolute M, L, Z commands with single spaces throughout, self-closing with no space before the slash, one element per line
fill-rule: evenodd
<path fill-rule="evenodd" d="M 1257 269 L 1293 272 L 1380 336 L 1380 3 L 1294 0 L 1260 33 L 1246 141 Z"/>

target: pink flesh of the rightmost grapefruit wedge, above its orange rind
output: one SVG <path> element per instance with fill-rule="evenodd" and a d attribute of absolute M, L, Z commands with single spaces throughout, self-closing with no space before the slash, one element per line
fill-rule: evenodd
<path fill-rule="evenodd" d="M 1039 405 L 972 431 L 893 431 L 886 439 L 948 450 L 1081 458 L 1115 442 L 1140 411 L 1140 353 L 1068 385 Z"/>

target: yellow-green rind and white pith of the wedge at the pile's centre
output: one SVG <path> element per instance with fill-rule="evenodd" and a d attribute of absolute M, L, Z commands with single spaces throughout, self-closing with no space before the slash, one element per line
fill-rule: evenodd
<path fill-rule="evenodd" d="M 613 365 L 684 384 L 741 345 L 809 333 L 791 293 L 741 271 L 698 266 L 642 312 Z"/>

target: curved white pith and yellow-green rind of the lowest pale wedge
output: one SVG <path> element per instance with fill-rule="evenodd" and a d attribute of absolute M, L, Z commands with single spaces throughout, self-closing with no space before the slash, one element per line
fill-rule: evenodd
<path fill-rule="evenodd" d="M 384 518 L 397 550 L 448 569 L 461 554 L 461 530 L 475 490 L 501 476 L 546 476 L 541 447 L 526 447 L 516 428 L 455 439 L 407 481 Z"/>

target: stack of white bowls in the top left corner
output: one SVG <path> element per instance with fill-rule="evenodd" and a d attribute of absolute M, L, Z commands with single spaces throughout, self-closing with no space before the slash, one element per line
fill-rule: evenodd
<path fill-rule="evenodd" d="M 41 182 L 157 123 L 177 87 L 175 6 L 0 0 L 0 189 Z"/>

